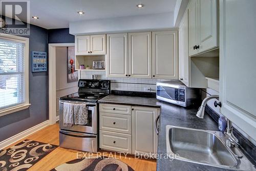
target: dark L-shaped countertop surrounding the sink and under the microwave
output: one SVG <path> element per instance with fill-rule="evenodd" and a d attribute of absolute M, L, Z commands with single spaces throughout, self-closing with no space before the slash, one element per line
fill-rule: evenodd
<path fill-rule="evenodd" d="M 152 97 L 138 97 L 125 95 L 108 95 L 99 100 L 98 103 L 120 104 L 120 105 L 134 105 L 147 107 L 160 107 L 160 126 L 159 126 L 159 140 L 158 140 L 158 154 L 166 154 L 166 125 L 213 130 L 218 131 L 218 125 L 206 112 L 203 119 L 196 116 L 198 106 L 184 108 L 181 106 L 169 104 L 158 101 Z M 180 160 L 157 159 L 157 170 L 227 170 L 203 164 L 190 163 Z"/>

